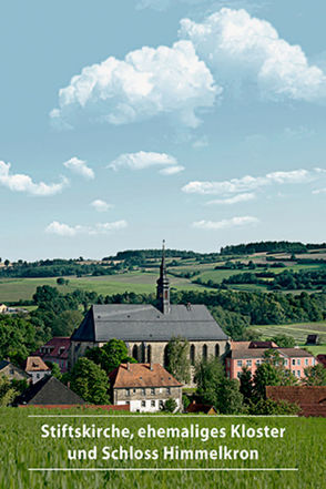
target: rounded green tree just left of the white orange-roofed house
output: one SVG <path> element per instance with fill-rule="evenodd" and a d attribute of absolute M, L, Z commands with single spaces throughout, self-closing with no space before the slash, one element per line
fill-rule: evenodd
<path fill-rule="evenodd" d="M 84 400 L 92 404 L 109 404 L 109 379 L 102 368 L 89 360 L 80 358 L 70 374 L 71 389 Z"/>

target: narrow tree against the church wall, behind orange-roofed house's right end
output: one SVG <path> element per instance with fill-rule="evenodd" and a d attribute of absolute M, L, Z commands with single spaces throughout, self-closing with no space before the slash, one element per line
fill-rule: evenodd
<path fill-rule="evenodd" d="M 170 374 L 172 374 L 176 378 L 176 380 L 189 384 L 191 379 L 189 342 L 184 338 L 173 337 L 167 343 L 166 348 L 167 371 L 170 371 Z"/>

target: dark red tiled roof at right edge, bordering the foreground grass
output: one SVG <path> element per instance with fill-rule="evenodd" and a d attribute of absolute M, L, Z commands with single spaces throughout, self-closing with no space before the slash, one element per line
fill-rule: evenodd
<path fill-rule="evenodd" d="M 326 387 L 267 386 L 266 396 L 273 400 L 297 404 L 302 416 L 326 417 Z"/>

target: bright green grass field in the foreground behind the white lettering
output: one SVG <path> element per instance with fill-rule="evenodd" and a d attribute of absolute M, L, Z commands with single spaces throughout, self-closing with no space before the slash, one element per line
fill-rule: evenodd
<path fill-rule="evenodd" d="M 51 418 L 29 418 L 28 415 L 51 414 Z M 78 417 L 55 417 L 57 414 L 78 415 Z M 81 418 L 80 415 L 92 415 Z M 190 417 L 189 415 L 166 417 L 160 415 L 129 417 L 126 414 L 116 414 L 111 418 L 94 418 L 103 416 L 103 411 L 95 410 L 64 410 L 45 411 L 44 409 L 14 409 L 1 408 L 1 446 L 0 452 L 0 487 L 1 489 L 296 489 L 325 488 L 326 475 L 326 419 L 324 418 L 225 418 L 225 417 Z M 53 417 L 54 416 L 54 417 Z M 122 438 L 47 438 L 41 437 L 41 426 L 61 426 L 69 424 L 73 428 L 85 424 L 88 427 L 129 428 L 134 435 L 133 440 Z M 245 425 L 246 428 L 285 428 L 283 438 L 232 438 L 231 425 Z M 187 428 L 197 425 L 200 429 L 224 428 L 226 437 L 208 438 L 140 438 L 137 430 L 151 425 L 152 428 Z M 91 449 L 96 447 L 96 458 L 89 460 L 69 460 L 68 450 Z M 102 459 L 102 448 L 106 446 L 109 452 L 114 449 L 157 450 L 157 460 L 109 460 Z M 163 457 L 163 447 L 177 446 L 180 449 L 227 449 L 257 450 L 256 460 L 167 460 Z M 29 468 L 102 468 L 103 471 L 29 471 Z M 109 468 L 136 468 L 139 471 L 109 471 Z M 147 469 L 171 469 L 180 471 Z M 201 471 L 186 471 L 196 468 Z M 252 471 L 210 471 L 208 468 L 255 469 Z M 261 471 L 261 468 L 291 468 L 297 471 Z M 106 469 L 106 470 L 105 470 Z"/>

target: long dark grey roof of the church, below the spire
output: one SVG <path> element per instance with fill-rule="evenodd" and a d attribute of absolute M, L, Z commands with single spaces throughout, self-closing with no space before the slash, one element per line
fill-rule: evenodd
<path fill-rule="evenodd" d="M 170 313 L 162 314 L 150 304 L 93 305 L 71 339 L 169 342 L 173 336 L 189 340 L 227 339 L 204 305 L 171 305 Z"/>

